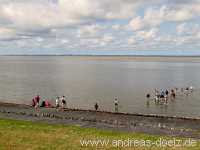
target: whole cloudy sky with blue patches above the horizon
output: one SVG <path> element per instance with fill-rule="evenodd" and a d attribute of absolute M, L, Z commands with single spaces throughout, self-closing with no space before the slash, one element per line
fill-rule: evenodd
<path fill-rule="evenodd" d="M 0 54 L 200 51 L 200 0 L 0 0 Z"/>

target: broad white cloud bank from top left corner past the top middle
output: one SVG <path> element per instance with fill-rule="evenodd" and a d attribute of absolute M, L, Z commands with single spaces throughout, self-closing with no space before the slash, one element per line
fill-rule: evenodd
<path fill-rule="evenodd" d="M 0 18 L 21 29 L 55 28 L 95 19 L 127 19 L 144 1 L 49 0 L 8 1 L 0 5 Z"/>

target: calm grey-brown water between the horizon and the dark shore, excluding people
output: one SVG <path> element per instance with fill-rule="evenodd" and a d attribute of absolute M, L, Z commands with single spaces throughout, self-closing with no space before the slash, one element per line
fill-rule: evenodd
<path fill-rule="evenodd" d="M 100 109 L 113 111 L 118 97 L 122 112 L 200 116 L 200 61 L 174 60 L 1 56 L 0 100 L 29 104 L 37 93 L 51 100 L 66 95 L 69 107 L 93 109 L 99 102 Z M 145 95 L 154 88 L 190 85 L 195 91 L 188 97 L 179 95 L 168 106 L 146 105 Z"/>

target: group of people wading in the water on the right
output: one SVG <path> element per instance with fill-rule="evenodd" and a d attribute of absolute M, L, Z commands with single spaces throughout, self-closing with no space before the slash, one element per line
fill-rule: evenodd
<path fill-rule="evenodd" d="M 155 89 L 153 99 L 155 100 L 155 103 L 167 104 L 169 99 L 170 100 L 176 99 L 176 95 L 178 92 L 188 95 L 193 92 L 193 87 L 190 86 L 190 87 L 186 87 L 186 88 L 180 88 L 180 91 L 178 88 L 174 88 L 171 90 L 166 89 L 166 90 L 161 90 L 161 91 Z M 147 105 L 149 105 L 149 100 L 151 99 L 151 95 L 148 93 L 146 95 L 146 98 L 147 98 Z"/>

